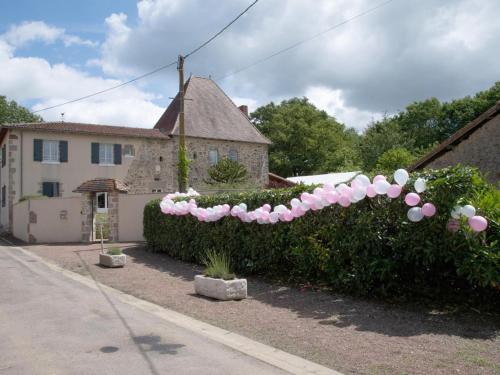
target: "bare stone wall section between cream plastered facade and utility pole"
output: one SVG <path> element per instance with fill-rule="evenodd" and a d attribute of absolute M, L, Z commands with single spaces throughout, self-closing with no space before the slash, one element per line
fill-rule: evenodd
<path fill-rule="evenodd" d="M 130 194 L 154 191 L 172 192 L 177 188 L 177 145 L 170 140 L 145 139 L 132 161 L 124 182 Z"/>

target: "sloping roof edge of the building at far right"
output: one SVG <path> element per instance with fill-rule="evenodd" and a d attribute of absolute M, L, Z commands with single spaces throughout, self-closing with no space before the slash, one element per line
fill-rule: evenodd
<path fill-rule="evenodd" d="M 431 152 L 417 160 L 410 168 L 409 171 L 414 171 L 419 168 L 425 167 L 431 161 L 437 159 L 439 156 L 448 152 L 452 146 L 459 144 L 464 139 L 467 139 L 473 132 L 491 120 L 493 117 L 500 114 L 500 101 L 498 101 L 493 107 L 488 109 L 486 112 L 482 113 L 474 120 L 469 122 L 464 127 L 460 128 L 457 132 L 452 134 L 444 142 L 436 146 Z"/>

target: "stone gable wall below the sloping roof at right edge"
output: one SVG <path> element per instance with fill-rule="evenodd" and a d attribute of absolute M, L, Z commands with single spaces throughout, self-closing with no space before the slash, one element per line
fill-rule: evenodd
<path fill-rule="evenodd" d="M 479 168 L 488 174 L 488 180 L 492 183 L 500 180 L 500 115 L 425 167 L 444 168 L 456 164 Z"/>

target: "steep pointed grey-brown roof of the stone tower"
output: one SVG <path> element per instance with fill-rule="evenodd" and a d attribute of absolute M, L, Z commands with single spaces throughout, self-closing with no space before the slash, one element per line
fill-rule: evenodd
<path fill-rule="evenodd" d="M 211 79 L 191 76 L 184 87 L 187 137 L 271 143 Z M 178 135 L 178 118 L 179 94 L 160 117 L 155 129 Z"/>

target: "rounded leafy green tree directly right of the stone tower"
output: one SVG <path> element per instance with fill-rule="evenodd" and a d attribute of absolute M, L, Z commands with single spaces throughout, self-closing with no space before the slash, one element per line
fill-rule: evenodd
<path fill-rule="evenodd" d="M 285 177 L 328 173 L 360 164 L 356 132 L 307 98 L 267 104 L 253 112 L 251 120 L 273 142 L 269 169 L 274 173 Z"/>

